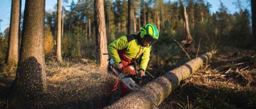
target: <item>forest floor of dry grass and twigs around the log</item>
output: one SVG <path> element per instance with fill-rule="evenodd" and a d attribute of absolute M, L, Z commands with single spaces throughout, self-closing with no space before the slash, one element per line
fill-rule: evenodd
<path fill-rule="evenodd" d="M 165 66 L 149 65 L 149 72 L 161 74 L 189 61 L 177 55 L 180 61 Z M 100 70 L 94 61 L 46 62 L 48 92 L 40 100 L 21 103 L 23 108 L 86 108 L 95 109 L 105 86 L 105 70 Z M 165 64 L 164 62 L 162 64 Z M 2 68 L 3 69 L 3 68 Z M 15 71 L 0 72 L 0 108 L 9 108 L 5 91 L 14 79 Z M 112 76 L 112 80 L 116 77 Z M 145 80 L 144 83 L 153 78 Z M 118 100 L 119 90 L 111 102 Z M 197 70 L 160 104 L 159 109 L 209 109 L 209 108 L 256 108 L 256 56 L 248 51 L 221 52 Z"/>

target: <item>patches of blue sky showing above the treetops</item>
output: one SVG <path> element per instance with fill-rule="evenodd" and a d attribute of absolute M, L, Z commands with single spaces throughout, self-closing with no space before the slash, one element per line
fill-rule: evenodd
<path fill-rule="evenodd" d="M 21 12 L 24 11 L 24 6 L 25 6 L 25 0 L 21 0 Z M 74 0 L 76 3 L 78 0 Z M 165 0 L 168 1 L 168 0 Z M 171 0 L 171 1 L 177 1 L 177 0 Z M 220 1 L 219 0 L 206 0 L 212 5 L 212 8 L 210 8 L 211 13 L 215 13 L 218 11 L 220 7 Z M 240 0 L 241 5 L 243 9 L 248 9 L 249 11 L 251 10 L 250 6 L 250 0 Z M 65 4 L 66 6 L 70 5 L 72 0 L 69 0 L 68 4 Z M 228 9 L 228 12 L 230 14 L 233 14 L 236 11 L 239 11 L 238 8 L 233 4 L 237 2 L 237 0 L 221 0 L 221 2 L 226 6 Z M 3 32 L 7 27 L 10 25 L 10 18 L 11 18 L 11 0 L 0 0 L 0 19 L 2 22 L 0 22 L 0 32 Z M 53 10 L 53 7 L 57 4 L 57 0 L 46 0 L 46 6 L 45 9 L 46 11 Z M 63 5 L 63 3 L 61 4 Z"/>

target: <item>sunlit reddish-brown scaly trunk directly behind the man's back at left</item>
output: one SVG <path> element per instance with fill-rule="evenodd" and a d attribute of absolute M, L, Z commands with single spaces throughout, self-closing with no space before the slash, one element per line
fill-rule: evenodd
<path fill-rule="evenodd" d="M 107 34 L 105 26 L 104 0 L 94 0 L 94 17 L 95 17 L 95 39 L 96 39 L 96 62 L 103 69 L 107 68 Z"/>

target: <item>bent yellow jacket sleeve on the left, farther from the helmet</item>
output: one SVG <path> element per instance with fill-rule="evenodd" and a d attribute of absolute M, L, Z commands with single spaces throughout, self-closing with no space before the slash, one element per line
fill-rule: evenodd
<path fill-rule="evenodd" d="M 128 45 L 128 42 L 127 42 L 126 36 L 121 36 L 120 38 L 116 39 L 115 41 L 113 41 L 111 44 L 108 45 L 108 51 L 116 65 L 121 62 L 121 59 L 117 53 L 117 50 L 122 50 L 126 48 L 127 45 Z"/>

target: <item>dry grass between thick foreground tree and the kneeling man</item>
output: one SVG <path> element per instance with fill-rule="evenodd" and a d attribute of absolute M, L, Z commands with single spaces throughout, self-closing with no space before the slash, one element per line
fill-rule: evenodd
<path fill-rule="evenodd" d="M 46 73 L 48 91 L 45 96 L 41 100 L 23 103 L 20 107 L 96 108 L 107 77 L 107 70 L 99 69 L 96 64 L 70 62 L 48 62 Z M 114 76 L 111 78 L 116 79 Z M 4 102 L 6 103 L 6 100 L 3 100 L 1 105 L 6 107 Z"/>

